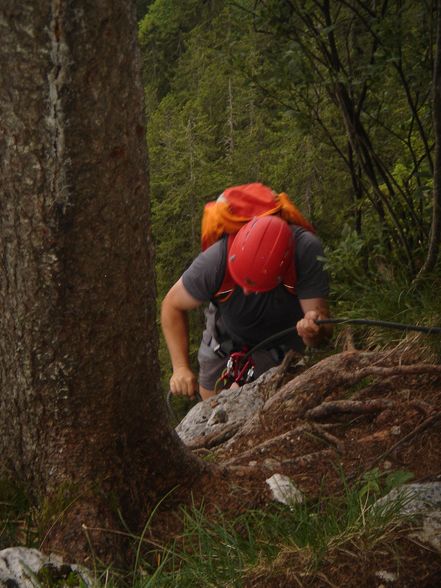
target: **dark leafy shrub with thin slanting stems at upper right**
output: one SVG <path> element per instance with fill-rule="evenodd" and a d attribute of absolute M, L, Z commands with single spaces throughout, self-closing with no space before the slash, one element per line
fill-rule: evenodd
<path fill-rule="evenodd" d="M 421 178 L 432 166 L 431 102 L 420 92 L 432 76 L 430 8 L 403 2 L 380 13 L 356 1 L 255 7 L 258 28 L 272 40 L 262 83 L 344 161 L 357 231 L 374 213 L 382 241 L 414 275 L 430 223 Z M 349 201 L 345 208 L 347 215 Z"/>

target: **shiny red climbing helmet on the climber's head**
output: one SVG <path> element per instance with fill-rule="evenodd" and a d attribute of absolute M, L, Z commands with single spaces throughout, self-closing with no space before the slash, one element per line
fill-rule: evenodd
<path fill-rule="evenodd" d="M 244 225 L 228 254 L 234 281 L 252 292 L 278 286 L 293 264 L 292 231 L 278 216 L 262 216 Z"/>

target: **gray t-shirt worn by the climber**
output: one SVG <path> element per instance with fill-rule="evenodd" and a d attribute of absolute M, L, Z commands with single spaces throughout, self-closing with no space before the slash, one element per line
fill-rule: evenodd
<path fill-rule="evenodd" d="M 185 289 L 197 300 L 212 302 L 207 315 L 204 338 L 229 337 L 238 346 L 254 346 L 282 330 L 294 327 L 303 316 L 299 299 L 327 298 L 328 277 L 323 269 L 323 248 L 313 233 L 302 227 L 292 227 L 295 241 L 296 295 L 283 285 L 269 292 L 245 296 L 237 287 L 222 303 L 213 300 L 220 288 L 227 263 L 227 240 L 221 239 L 200 253 L 182 276 Z M 216 329 L 214 328 L 214 323 Z M 293 329 L 292 334 L 277 341 L 301 351 L 303 343 Z M 271 344 L 269 347 L 274 347 Z"/>

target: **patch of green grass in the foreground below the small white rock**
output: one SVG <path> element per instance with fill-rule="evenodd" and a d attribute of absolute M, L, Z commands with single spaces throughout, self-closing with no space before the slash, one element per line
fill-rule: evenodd
<path fill-rule="evenodd" d="M 293 556 L 298 569 L 294 566 L 291 573 L 314 574 L 345 545 L 365 552 L 390 539 L 402 522 L 399 505 L 379 510 L 373 503 L 409 477 L 373 470 L 355 485 L 344 483 L 340 496 L 293 507 L 274 505 L 234 519 L 222 513 L 207 517 L 195 508 L 183 511 L 181 536 L 163 551 L 151 552 L 146 560 L 155 560 L 156 570 L 144 566 L 132 585 L 240 588 L 247 579 L 285 573 Z"/>

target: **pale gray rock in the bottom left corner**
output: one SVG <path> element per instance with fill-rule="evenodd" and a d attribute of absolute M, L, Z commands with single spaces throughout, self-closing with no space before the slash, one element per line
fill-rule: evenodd
<path fill-rule="evenodd" d="M 46 556 L 28 547 L 8 547 L 0 551 L 0 588 L 36 588 L 42 585 L 43 578 L 53 583 L 69 578 L 69 586 L 80 586 L 81 582 L 83 586 L 92 586 L 84 568 L 65 564 L 57 555 Z M 77 584 L 72 583 L 75 579 Z"/>

